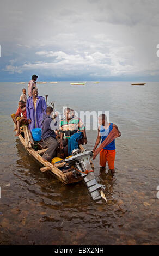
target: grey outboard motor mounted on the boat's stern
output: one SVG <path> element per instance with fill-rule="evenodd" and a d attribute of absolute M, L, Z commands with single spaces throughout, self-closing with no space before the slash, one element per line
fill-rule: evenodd
<path fill-rule="evenodd" d="M 66 163 L 77 169 L 75 172 L 79 172 L 84 177 L 85 184 L 88 187 L 89 193 L 93 200 L 100 200 L 100 188 L 105 190 L 105 186 L 96 182 L 94 171 L 90 165 L 90 157 L 93 156 L 92 151 L 84 151 L 81 153 L 79 149 L 72 150 L 72 156 L 65 159 Z"/>

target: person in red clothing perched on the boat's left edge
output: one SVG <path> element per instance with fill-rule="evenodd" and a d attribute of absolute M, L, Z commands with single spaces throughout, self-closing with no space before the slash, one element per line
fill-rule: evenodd
<path fill-rule="evenodd" d="M 19 101 L 19 107 L 15 114 L 12 114 L 11 117 L 13 118 L 13 121 L 15 123 L 15 130 L 17 130 L 17 134 L 15 136 L 20 135 L 20 127 L 23 124 L 27 124 L 27 111 L 26 111 L 26 105 L 25 102 L 22 100 Z"/>

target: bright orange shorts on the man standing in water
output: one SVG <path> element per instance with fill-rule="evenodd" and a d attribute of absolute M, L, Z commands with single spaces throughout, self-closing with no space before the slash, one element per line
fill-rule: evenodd
<path fill-rule="evenodd" d="M 114 161 L 115 161 L 115 149 L 107 150 L 102 149 L 100 151 L 100 166 L 105 167 L 108 162 L 108 167 L 110 170 L 114 169 Z"/>

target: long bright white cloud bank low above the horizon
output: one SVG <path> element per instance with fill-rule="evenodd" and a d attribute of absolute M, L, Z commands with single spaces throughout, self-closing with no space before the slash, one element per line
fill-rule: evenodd
<path fill-rule="evenodd" d="M 132 46 L 112 48 L 107 54 L 102 52 L 68 54 L 62 51 L 38 51 L 36 54 L 46 57 L 46 61 L 24 63 L 21 66 L 7 65 L 5 71 L 16 73 L 26 70 L 43 70 L 48 74 L 56 74 L 60 77 L 75 75 L 90 75 L 97 77 L 109 77 L 119 75 L 140 75 L 148 72 L 149 75 L 158 74 L 157 63 L 151 63 L 151 67 L 140 67 L 133 62 L 135 49 Z"/>

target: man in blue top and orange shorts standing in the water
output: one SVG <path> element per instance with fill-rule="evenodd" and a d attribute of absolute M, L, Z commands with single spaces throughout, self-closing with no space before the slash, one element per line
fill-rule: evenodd
<path fill-rule="evenodd" d="M 121 132 L 118 129 L 118 126 L 113 123 L 108 123 L 107 116 L 105 114 L 99 115 L 99 128 L 98 128 L 98 134 L 97 139 L 94 145 L 93 153 L 96 150 L 97 146 L 100 143 L 100 140 L 102 139 L 101 143 L 107 138 L 108 134 L 112 131 L 113 127 L 118 130 L 119 137 L 121 136 Z M 106 163 L 108 162 L 109 170 L 111 170 L 111 173 L 114 174 L 114 161 L 115 161 L 115 139 L 109 143 L 106 147 L 104 147 L 100 151 L 100 166 L 101 170 L 106 168 Z"/>

